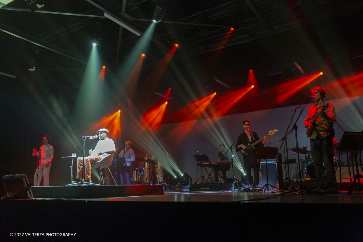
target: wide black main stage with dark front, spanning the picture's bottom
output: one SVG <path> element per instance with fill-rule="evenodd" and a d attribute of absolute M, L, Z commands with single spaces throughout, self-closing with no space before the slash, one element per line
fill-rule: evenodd
<path fill-rule="evenodd" d="M 165 192 L 98 199 L 2 199 L 0 238 L 87 242 L 362 241 L 362 205 L 362 193 Z M 10 233 L 24 236 L 15 238 Z M 49 233 L 76 234 L 61 237 Z"/>

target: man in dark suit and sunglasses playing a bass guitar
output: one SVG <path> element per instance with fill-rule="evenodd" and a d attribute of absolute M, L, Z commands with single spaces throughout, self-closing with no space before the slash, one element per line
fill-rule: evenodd
<path fill-rule="evenodd" d="M 242 122 L 242 126 L 245 130 L 244 130 L 244 132 L 242 132 L 242 134 L 237 139 L 236 151 L 240 151 L 241 149 L 247 149 L 246 145 L 248 145 L 248 143 L 251 140 L 260 139 L 256 132 L 249 131 L 249 127 L 250 127 L 249 120 L 244 120 Z M 265 136 L 264 138 L 265 138 L 264 141 L 256 144 L 254 147 L 257 148 L 257 147 L 264 146 L 263 144 L 266 143 L 268 140 L 267 136 Z M 254 158 L 254 153 L 256 153 L 256 152 L 251 151 L 247 156 L 243 156 L 243 163 L 244 163 L 245 169 L 246 169 L 246 179 L 247 179 L 248 184 L 252 184 L 251 168 L 253 168 L 253 174 L 254 174 L 253 187 L 258 188 L 258 180 L 260 178 L 260 172 L 258 171 L 258 169 L 260 168 L 260 161 L 258 159 Z"/>

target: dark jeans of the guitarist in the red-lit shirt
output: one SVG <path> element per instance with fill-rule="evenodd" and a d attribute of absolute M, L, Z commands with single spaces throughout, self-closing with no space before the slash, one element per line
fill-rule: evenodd
<path fill-rule="evenodd" d="M 329 135 L 324 139 L 310 139 L 310 148 L 317 185 L 321 188 L 324 187 L 324 163 L 327 186 L 337 188 L 333 164 L 333 137 Z"/>

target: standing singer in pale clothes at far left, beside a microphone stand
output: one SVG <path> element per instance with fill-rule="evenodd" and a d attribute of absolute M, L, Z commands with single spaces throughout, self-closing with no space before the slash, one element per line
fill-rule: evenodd
<path fill-rule="evenodd" d="M 53 146 L 50 145 L 52 138 L 48 135 L 43 136 L 43 145 L 39 152 L 33 149 L 33 156 L 38 156 L 38 167 L 34 174 L 34 186 L 39 186 L 43 177 L 43 186 L 49 186 L 50 162 L 53 160 Z M 40 173 L 40 174 L 39 174 Z"/>

